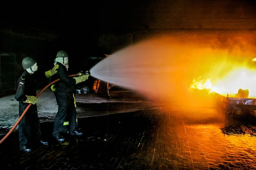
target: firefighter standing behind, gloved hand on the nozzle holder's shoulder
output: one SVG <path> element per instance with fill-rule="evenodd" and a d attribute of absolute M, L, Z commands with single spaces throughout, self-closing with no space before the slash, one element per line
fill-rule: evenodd
<path fill-rule="evenodd" d="M 31 58 L 26 57 L 22 61 L 22 66 L 25 71 L 18 79 L 17 92 L 15 99 L 19 102 L 19 115 L 23 113 L 29 103 L 32 103 L 29 110 L 19 123 L 19 142 L 20 150 L 30 152 L 31 149 L 27 146 L 28 142 L 40 142 L 41 144 L 47 145 L 48 142 L 41 140 L 41 129 L 40 121 L 37 112 L 37 98 L 36 96 L 36 82 L 35 82 L 35 71 L 37 71 L 37 62 Z M 56 65 L 52 70 L 46 71 L 45 76 L 47 78 L 56 74 Z"/>

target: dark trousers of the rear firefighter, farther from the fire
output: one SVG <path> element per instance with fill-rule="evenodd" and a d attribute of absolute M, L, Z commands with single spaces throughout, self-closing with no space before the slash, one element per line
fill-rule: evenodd
<path fill-rule="evenodd" d="M 19 105 L 19 115 L 21 116 L 28 104 Z M 39 140 L 41 137 L 41 127 L 38 118 L 37 106 L 31 105 L 19 123 L 20 147 L 26 146 L 32 140 Z"/>

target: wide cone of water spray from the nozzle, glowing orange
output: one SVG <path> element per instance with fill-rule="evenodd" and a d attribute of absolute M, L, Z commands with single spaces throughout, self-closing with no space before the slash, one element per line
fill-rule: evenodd
<path fill-rule="evenodd" d="M 211 95 L 191 91 L 197 77 L 213 81 L 248 66 L 255 54 L 252 34 L 180 34 L 130 45 L 96 64 L 91 75 L 173 107 L 214 105 Z"/>

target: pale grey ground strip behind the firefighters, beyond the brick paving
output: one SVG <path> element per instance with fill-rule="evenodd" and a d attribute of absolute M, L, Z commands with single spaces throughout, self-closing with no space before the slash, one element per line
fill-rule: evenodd
<path fill-rule="evenodd" d="M 19 103 L 14 96 L 0 98 L 0 136 L 6 134 L 19 119 Z M 106 98 L 106 93 L 76 94 L 78 118 L 138 111 L 148 104 L 143 96 L 133 91 L 111 91 L 111 99 Z M 52 91 L 46 89 L 39 96 L 37 107 L 41 122 L 54 121 L 58 106 Z"/>

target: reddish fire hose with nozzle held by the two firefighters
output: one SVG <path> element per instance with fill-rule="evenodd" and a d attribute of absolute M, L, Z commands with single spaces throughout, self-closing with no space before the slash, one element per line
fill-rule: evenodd
<path fill-rule="evenodd" d="M 83 75 L 87 75 L 89 74 L 90 75 L 90 71 L 87 71 L 85 73 L 78 73 L 78 74 L 71 74 L 69 75 L 69 77 L 80 77 L 80 76 L 83 76 Z M 49 88 L 50 85 L 53 85 L 55 82 L 58 82 L 60 79 L 55 79 L 54 81 L 50 82 L 47 86 L 45 86 L 41 91 L 38 92 L 38 94 L 35 96 L 38 98 L 38 96 L 40 96 L 43 91 L 45 91 L 45 89 Z M 15 123 L 15 125 L 12 127 L 12 129 L 6 134 L 6 136 L 3 137 L 3 139 L 0 140 L 0 144 L 2 144 L 6 138 L 8 136 L 10 136 L 10 134 L 13 132 L 13 130 L 17 127 L 17 125 L 20 123 L 21 119 L 24 117 L 24 115 L 26 114 L 26 112 L 29 110 L 30 106 L 32 105 L 32 103 L 29 103 L 29 105 L 26 107 L 25 111 L 23 111 L 23 113 L 21 114 L 20 118 L 17 120 L 17 122 Z"/>

